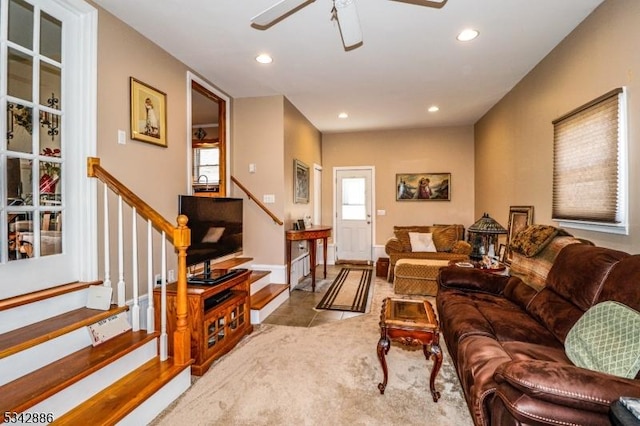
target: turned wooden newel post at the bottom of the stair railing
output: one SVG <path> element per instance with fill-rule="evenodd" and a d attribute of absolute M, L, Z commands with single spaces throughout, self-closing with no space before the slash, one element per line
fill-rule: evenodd
<path fill-rule="evenodd" d="M 187 248 L 191 245 L 188 218 L 178 216 L 178 227 L 173 233 L 173 245 L 178 250 L 178 292 L 176 295 L 176 331 L 173 333 L 173 357 L 178 365 L 191 362 L 191 335 L 187 323 Z"/>

